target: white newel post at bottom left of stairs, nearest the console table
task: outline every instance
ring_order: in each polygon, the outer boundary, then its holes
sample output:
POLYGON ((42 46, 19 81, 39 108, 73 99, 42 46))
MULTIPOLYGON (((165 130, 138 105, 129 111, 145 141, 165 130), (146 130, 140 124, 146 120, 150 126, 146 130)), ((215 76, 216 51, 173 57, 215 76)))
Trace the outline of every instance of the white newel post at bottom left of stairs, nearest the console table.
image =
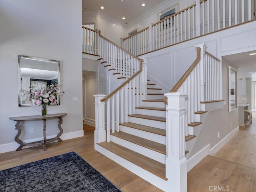
POLYGON ((106 141, 105 130, 105 102, 100 100, 106 95, 94 95, 95 97, 95 131, 94 131, 94 145, 96 143, 106 141))

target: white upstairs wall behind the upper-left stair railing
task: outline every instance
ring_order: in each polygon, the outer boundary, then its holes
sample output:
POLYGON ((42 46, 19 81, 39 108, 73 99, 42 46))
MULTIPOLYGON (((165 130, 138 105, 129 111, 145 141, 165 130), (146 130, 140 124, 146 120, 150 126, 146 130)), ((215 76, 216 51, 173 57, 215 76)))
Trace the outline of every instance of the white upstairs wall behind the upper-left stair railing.
POLYGON ((121 45, 120 38, 126 36, 126 24, 121 23, 110 16, 98 11, 83 12, 83 24, 95 24, 95 29, 99 29, 101 35, 121 45))

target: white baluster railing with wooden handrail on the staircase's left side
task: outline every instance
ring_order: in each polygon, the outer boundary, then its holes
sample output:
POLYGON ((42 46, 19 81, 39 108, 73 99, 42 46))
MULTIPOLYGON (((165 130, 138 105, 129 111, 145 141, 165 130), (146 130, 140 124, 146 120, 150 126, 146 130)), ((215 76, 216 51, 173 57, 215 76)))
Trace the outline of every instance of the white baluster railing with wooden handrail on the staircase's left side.
POLYGON ((107 142, 110 142, 110 127, 112 133, 115 130, 119 132, 119 123, 128 122, 128 114, 135 114, 135 107, 142 103, 143 60, 101 36, 100 31, 98 32, 98 44, 100 58, 126 79, 108 96, 100 99, 101 103, 106 102, 107 142))

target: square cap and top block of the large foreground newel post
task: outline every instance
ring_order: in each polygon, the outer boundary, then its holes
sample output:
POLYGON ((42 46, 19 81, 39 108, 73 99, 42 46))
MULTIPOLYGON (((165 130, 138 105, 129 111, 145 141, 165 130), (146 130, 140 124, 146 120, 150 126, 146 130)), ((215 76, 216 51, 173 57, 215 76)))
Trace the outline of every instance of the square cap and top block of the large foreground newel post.
POLYGON ((167 97, 167 109, 185 109, 185 99, 188 96, 187 93, 166 93, 164 96, 167 97))

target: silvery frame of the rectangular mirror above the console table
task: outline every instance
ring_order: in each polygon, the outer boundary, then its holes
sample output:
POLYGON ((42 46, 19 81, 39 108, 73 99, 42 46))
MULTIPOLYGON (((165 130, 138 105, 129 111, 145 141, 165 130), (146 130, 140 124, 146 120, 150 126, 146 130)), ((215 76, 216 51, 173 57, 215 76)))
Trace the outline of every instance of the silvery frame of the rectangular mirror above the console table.
MULTIPOLYGON (((58 64, 58 77, 57 77, 57 82, 60 82, 60 61, 57 60, 52 60, 52 59, 45 59, 45 58, 38 58, 34 56, 26 56, 26 55, 18 55, 18 106, 19 107, 34 107, 38 105, 33 105, 33 104, 22 104, 21 102, 21 62, 20 59, 25 58, 25 59, 30 59, 30 60, 35 60, 35 61, 40 61, 40 62, 53 62, 58 64)), ((40 79, 39 79, 40 80, 40 79)), ((46 80, 47 81, 47 80, 46 80)), ((60 105, 60 96, 58 95, 57 98, 57 104, 52 104, 52 105, 60 105)))

